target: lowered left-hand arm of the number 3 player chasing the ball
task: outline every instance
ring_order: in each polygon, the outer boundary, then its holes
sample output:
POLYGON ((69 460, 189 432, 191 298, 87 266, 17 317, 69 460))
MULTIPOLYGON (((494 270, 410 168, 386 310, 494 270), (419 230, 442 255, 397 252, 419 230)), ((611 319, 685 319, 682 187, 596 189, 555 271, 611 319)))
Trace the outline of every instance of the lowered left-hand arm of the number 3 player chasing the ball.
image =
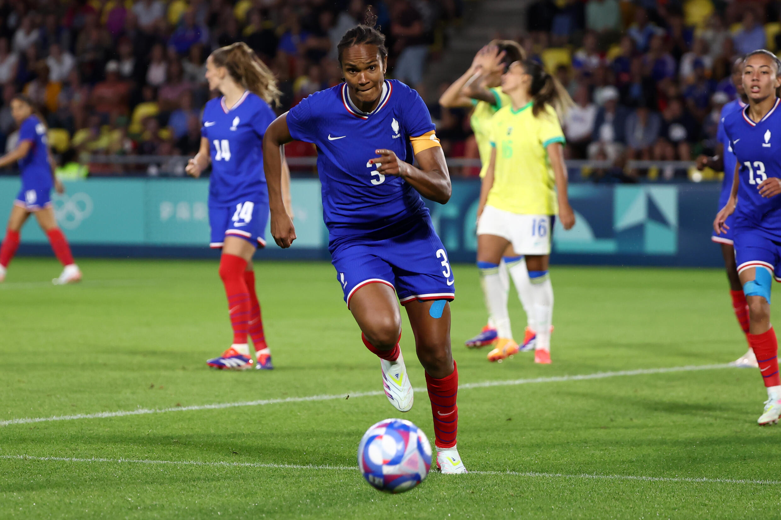
POLYGON ((290 247, 295 240, 293 220, 285 209, 283 193, 283 158, 281 147, 293 140, 287 128, 287 112, 266 129, 263 136, 263 172, 269 187, 269 209, 271 210, 271 235, 281 248, 290 247))

